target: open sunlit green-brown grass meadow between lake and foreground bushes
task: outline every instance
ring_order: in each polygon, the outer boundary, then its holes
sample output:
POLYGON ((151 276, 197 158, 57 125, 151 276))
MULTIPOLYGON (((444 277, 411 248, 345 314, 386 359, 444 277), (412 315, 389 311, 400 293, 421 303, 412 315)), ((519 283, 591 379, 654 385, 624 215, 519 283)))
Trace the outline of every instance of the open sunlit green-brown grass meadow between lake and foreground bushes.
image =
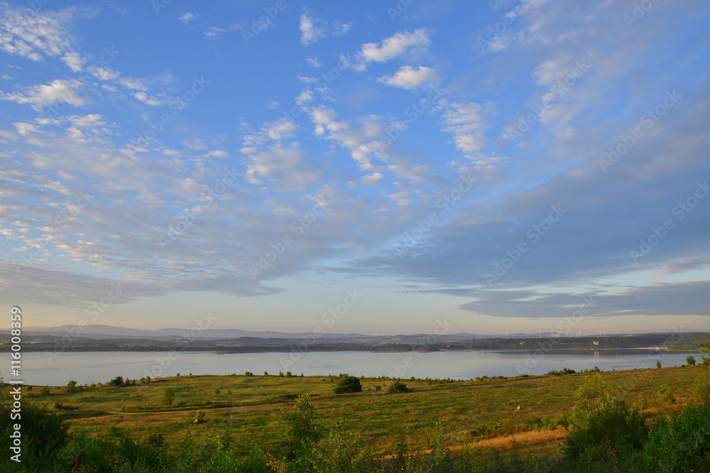
MULTIPOLYGON (((649 411, 660 406, 657 393, 661 388, 667 388, 677 399, 682 399, 689 394, 692 381, 702 374, 703 368, 699 366, 602 373, 619 386, 623 399, 634 402, 643 394, 649 411)), ((106 433, 116 426, 128 428, 139 438, 160 432, 169 440, 190 434, 198 442, 212 442, 228 430, 244 452, 253 445, 268 449, 283 440, 286 428, 280 411, 290 406, 291 394, 307 392, 315 395, 318 423, 327 427, 334 421, 344 420, 363 428, 374 452, 386 455, 393 451, 397 435, 402 433, 410 445, 426 448, 439 420, 452 441, 464 438, 466 442, 473 442, 480 440, 472 432, 480 431, 481 426, 493 430, 488 437, 505 437, 531 416, 571 413, 574 391, 588 376, 591 373, 432 386, 407 381, 408 387, 413 389, 407 394, 387 394, 386 386, 391 382, 364 379, 363 393, 339 396, 332 394, 337 378, 274 376, 173 377, 121 388, 82 388, 73 393, 53 388, 45 396, 38 396, 39 389, 35 386, 30 392, 49 408, 55 402, 72 407, 64 414, 72 425, 97 433, 106 433), (375 391, 377 385, 383 386, 381 391, 375 391), (176 403, 185 404, 173 408, 161 406, 160 399, 168 387, 175 389, 176 403), (207 401, 214 404, 205 405, 207 401), (520 411, 516 410, 517 406, 520 411), (141 411, 124 413, 120 412, 122 409, 141 411), (207 422, 192 423, 197 409, 204 411, 207 422)), ((521 444, 532 445, 540 453, 556 450, 560 438, 559 430, 516 435, 516 440, 523 440, 521 444)), ((486 440, 484 444, 505 449, 510 443, 498 439, 486 440)))

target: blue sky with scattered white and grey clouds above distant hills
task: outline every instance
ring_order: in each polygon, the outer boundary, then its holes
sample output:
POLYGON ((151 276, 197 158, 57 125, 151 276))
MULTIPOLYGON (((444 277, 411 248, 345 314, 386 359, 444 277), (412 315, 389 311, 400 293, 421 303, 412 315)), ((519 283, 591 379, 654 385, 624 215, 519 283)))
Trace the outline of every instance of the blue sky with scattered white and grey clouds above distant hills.
POLYGON ((25 326, 710 330, 709 24, 2 1, 1 299, 25 326))

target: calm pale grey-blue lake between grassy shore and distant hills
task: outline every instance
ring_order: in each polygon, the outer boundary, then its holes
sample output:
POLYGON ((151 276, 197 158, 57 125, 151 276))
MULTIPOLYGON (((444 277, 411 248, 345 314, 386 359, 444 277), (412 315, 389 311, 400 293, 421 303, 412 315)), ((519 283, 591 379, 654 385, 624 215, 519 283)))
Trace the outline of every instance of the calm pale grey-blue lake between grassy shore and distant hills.
MULTIPOLYGON (((167 352, 65 352, 48 362, 41 352, 22 355, 22 378, 27 384, 65 386, 71 379, 79 384, 107 382, 116 376, 137 379, 146 376, 188 374, 339 374, 471 379, 477 376, 543 374, 568 367, 580 371, 598 366, 603 371, 684 365, 688 354, 662 352, 588 352, 536 355, 525 352, 289 352, 228 353, 178 352, 170 360, 167 352), (527 365, 527 366, 526 366, 527 365)), ((699 354, 694 354, 700 362, 699 354)), ((5 380, 8 373, 3 371, 5 380)))

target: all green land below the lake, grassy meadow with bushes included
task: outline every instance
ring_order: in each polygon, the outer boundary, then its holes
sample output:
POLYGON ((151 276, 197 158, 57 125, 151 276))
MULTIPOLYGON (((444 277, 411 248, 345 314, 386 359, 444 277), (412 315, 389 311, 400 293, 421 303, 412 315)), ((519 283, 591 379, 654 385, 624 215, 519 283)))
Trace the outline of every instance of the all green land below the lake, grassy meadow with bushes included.
MULTIPOLYGON (((33 386, 22 406, 22 467, 704 472, 709 364, 468 382, 248 373, 33 386)), ((20 471, 8 460, 9 424, 5 410, 0 468, 20 471)))

